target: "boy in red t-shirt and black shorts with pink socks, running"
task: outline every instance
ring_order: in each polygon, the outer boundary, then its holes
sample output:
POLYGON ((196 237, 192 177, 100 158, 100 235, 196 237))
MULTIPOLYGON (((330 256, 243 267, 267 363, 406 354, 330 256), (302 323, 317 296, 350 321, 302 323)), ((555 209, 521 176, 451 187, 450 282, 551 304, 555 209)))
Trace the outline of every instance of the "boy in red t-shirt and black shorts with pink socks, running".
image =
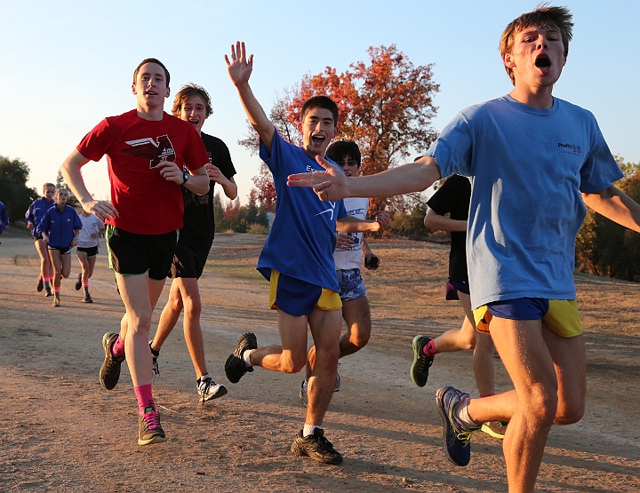
POLYGON ((116 273, 126 313, 120 334, 108 332, 102 338, 100 384, 108 390, 116 386, 126 354, 140 411, 140 445, 166 440, 151 393, 148 335, 182 227, 179 186, 199 195, 209 189, 204 168, 209 157, 202 139, 193 125, 164 113, 169 80, 162 62, 142 60, 133 72, 136 108, 100 122, 60 168, 84 211, 106 219, 108 225, 109 266, 116 273), (111 203, 93 200, 80 171, 103 155, 111 203))

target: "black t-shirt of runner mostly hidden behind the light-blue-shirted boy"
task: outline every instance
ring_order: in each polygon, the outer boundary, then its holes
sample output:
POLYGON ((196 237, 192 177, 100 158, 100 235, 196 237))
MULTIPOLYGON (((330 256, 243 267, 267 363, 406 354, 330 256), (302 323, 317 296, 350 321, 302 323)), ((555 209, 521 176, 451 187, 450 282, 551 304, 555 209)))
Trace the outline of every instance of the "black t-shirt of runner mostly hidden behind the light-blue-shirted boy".
MULTIPOLYGON (((471 182, 463 176, 449 177, 427 205, 436 213, 444 216, 449 213, 451 219, 468 219, 469 202, 471 201, 471 182)), ((453 281, 468 282, 467 272, 467 233, 452 231, 452 246, 449 252, 449 277, 453 281)))

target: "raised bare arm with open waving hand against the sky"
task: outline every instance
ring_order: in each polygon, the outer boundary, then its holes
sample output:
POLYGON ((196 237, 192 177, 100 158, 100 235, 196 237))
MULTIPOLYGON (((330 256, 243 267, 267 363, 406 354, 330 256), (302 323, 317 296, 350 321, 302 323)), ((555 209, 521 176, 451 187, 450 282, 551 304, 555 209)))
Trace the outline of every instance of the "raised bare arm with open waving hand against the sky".
POLYGON ((244 42, 236 41, 236 45, 231 45, 231 60, 225 55, 227 62, 228 76, 234 83, 240 96, 240 102, 244 107, 244 113, 249 118, 249 123, 260 135, 262 143, 267 148, 267 152, 271 154, 271 144, 276 128, 268 119, 264 109, 260 106, 258 99, 253 95, 251 86, 249 85, 249 77, 253 70, 253 55, 246 56, 246 48, 244 42))

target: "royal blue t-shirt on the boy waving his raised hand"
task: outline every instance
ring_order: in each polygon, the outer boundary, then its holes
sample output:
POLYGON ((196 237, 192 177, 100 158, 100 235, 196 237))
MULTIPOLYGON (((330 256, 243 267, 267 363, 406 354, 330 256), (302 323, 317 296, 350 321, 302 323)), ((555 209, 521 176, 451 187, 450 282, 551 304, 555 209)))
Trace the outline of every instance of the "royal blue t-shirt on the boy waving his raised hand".
POLYGON ((313 188, 287 187, 293 173, 324 171, 301 147, 276 131, 271 155, 260 140, 260 159, 267 163, 276 185, 276 218, 258 259, 267 279, 271 269, 301 281, 338 291, 333 263, 336 220, 347 215, 342 201, 322 202, 313 188))

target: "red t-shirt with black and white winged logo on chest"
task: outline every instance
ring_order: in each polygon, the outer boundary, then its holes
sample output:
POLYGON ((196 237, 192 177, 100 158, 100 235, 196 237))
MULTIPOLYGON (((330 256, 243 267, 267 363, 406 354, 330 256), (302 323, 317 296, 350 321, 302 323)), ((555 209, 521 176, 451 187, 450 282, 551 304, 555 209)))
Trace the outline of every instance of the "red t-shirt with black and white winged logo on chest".
POLYGON ((118 216, 106 223, 138 235, 164 235, 182 227, 181 187, 160 176, 157 164, 172 161, 194 171, 209 163, 191 123, 168 113, 151 122, 135 109, 102 120, 77 151, 92 161, 107 155, 111 203, 118 216))

